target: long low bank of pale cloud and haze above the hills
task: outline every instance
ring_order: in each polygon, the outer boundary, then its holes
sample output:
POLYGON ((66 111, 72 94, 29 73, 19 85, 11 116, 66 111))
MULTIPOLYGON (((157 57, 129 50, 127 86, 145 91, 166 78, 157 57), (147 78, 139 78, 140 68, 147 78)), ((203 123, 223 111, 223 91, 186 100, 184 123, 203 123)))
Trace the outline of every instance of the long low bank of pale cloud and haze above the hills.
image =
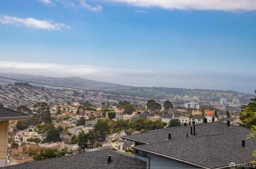
POLYGON ((47 77, 80 77, 130 86, 177 87, 236 90, 253 93, 256 77, 223 74, 155 72, 153 70, 110 69, 87 65, 53 63, 3 62, 1 73, 44 75, 47 77))

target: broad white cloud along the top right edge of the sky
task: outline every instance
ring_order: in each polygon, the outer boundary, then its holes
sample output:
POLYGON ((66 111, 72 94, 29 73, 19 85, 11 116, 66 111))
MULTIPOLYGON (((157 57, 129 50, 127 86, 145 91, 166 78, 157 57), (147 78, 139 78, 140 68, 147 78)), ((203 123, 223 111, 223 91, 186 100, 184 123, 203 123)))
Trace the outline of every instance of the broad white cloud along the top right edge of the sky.
POLYGON ((255 0, 108 0, 141 7, 161 7, 166 10, 254 11, 255 0))

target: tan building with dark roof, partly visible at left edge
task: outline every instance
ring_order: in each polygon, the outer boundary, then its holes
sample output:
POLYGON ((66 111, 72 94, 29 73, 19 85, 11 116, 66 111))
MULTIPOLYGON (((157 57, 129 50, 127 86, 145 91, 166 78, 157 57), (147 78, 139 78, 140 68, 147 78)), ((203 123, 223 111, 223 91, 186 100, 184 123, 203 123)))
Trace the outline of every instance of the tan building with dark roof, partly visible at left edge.
POLYGON ((14 111, 13 109, 0 107, 0 167, 7 166, 9 160, 7 158, 8 136, 9 136, 9 121, 12 120, 27 120, 32 116, 14 111))

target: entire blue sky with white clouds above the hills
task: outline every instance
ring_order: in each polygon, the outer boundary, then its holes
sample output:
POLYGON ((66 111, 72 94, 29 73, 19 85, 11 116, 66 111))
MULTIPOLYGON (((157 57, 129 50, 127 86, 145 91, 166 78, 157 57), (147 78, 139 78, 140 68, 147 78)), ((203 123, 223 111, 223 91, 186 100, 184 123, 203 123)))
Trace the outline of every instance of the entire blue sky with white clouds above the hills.
POLYGON ((253 93, 255 1, 205 2, 2 0, 0 71, 253 93))

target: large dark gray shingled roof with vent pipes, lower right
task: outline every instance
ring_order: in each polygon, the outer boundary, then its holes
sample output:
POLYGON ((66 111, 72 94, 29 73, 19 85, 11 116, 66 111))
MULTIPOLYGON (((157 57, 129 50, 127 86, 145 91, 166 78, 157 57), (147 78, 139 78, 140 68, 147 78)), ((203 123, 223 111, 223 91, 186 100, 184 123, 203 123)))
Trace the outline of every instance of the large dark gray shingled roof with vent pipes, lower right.
POLYGON ((180 126, 123 138, 148 142, 134 149, 204 168, 227 167, 230 162, 241 164, 254 159, 256 138, 246 139, 251 130, 222 122, 195 126, 195 136, 190 135, 190 126, 180 126), (167 140, 167 133, 172 134, 171 140, 167 140), (246 140, 245 147, 242 139, 246 140))

